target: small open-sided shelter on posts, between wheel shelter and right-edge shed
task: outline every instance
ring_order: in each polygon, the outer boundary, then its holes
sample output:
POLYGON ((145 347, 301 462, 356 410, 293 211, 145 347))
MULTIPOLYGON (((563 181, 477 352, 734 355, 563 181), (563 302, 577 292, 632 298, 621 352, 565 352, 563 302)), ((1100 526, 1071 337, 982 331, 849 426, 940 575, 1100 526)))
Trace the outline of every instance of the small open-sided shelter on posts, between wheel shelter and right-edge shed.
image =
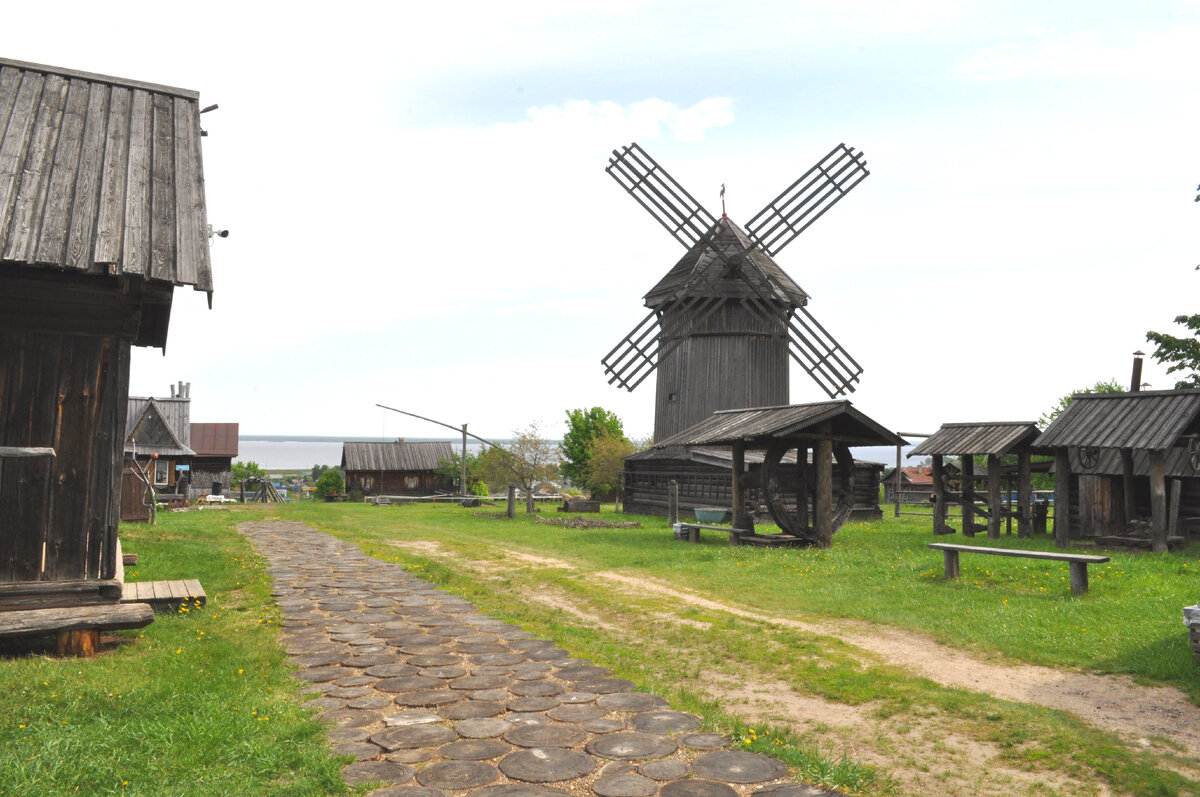
POLYGON ((1033 534, 1033 481, 1030 454, 1038 438, 1038 426, 1033 421, 994 421, 984 424, 942 424, 931 437, 926 437, 908 453, 908 456, 929 456, 934 462, 934 533, 953 534, 946 525, 948 502, 958 502, 962 508, 962 533, 974 537, 977 514, 988 519, 988 537, 1000 537, 1001 520, 1012 510, 1004 501, 1004 474, 1000 457, 1016 455, 1016 534, 1033 534), (961 489, 952 492, 947 485, 946 457, 960 457, 961 489), (974 457, 988 457, 986 475, 977 474, 974 457), (976 490, 976 481, 986 479, 986 493, 976 490), (983 498, 983 505, 976 502, 983 498))

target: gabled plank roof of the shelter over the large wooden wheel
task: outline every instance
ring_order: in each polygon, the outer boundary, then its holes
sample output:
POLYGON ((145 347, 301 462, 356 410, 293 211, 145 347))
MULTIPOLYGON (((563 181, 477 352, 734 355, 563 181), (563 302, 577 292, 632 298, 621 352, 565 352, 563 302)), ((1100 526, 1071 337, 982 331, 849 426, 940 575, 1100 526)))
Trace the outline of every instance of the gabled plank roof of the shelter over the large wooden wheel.
POLYGON ((902 445, 904 438, 854 409, 848 401, 821 401, 811 405, 722 409, 695 426, 656 444, 730 445, 748 443, 748 448, 766 448, 787 438, 816 438, 818 427, 828 424, 829 436, 847 445, 902 445))

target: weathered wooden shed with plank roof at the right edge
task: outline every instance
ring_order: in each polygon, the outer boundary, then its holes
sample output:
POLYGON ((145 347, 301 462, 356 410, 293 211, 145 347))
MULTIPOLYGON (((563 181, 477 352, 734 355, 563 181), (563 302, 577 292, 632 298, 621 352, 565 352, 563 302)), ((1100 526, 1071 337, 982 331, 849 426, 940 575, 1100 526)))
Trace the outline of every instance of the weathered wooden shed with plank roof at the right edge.
POLYGON ((1160 552, 1200 523, 1200 390, 1078 394, 1037 447, 1055 456, 1060 545, 1160 552))

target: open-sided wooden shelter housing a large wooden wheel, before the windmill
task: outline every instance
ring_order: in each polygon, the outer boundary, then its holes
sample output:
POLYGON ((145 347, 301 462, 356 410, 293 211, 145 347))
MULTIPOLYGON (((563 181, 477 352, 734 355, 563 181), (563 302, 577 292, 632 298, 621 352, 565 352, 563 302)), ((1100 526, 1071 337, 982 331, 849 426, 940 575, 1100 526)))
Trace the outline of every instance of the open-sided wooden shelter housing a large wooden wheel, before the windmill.
POLYGON ((785 534, 828 547, 834 532, 853 510, 854 463, 850 448, 904 444, 898 435, 844 400, 726 409, 659 445, 728 447, 732 450, 733 526, 749 531, 754 526, 745 501, 745 453, 763 451, 760 484, 772 519, 785 534), (809 449, 812 450, 811 466, 809 449), (792 451, 794 455, 785 465, 785 456, 792 451), (841 485, 838 505, 833 498, 835 457, 841 485))

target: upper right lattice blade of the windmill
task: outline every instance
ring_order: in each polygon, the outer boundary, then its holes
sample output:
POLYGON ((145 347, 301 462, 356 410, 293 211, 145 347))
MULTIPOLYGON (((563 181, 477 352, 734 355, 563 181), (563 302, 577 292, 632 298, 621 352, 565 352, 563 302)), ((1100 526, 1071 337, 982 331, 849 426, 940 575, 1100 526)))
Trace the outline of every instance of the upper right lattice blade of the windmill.
POLYGON ((838 144, 746 223, 750 240, 774 257, 868 174, 863 154, 838 144))

